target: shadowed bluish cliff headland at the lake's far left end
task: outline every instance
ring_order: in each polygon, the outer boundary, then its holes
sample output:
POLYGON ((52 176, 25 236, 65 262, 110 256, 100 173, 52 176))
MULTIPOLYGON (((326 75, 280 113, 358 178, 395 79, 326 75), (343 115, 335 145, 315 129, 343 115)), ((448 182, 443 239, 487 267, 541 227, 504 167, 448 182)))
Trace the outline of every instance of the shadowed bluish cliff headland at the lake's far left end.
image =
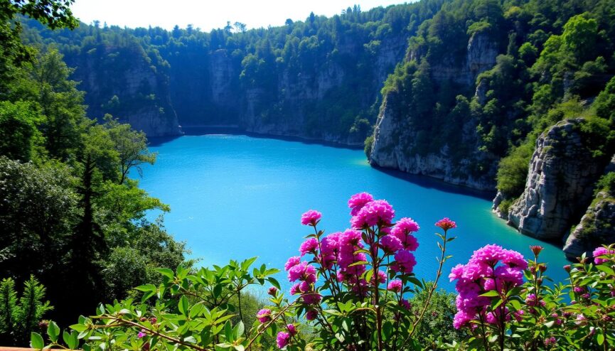
POLYGON ((139 47, 97 45, 67 58, 85 90, 90 117, 112 114, 148 136, 181 135, 166 76, 139 47))

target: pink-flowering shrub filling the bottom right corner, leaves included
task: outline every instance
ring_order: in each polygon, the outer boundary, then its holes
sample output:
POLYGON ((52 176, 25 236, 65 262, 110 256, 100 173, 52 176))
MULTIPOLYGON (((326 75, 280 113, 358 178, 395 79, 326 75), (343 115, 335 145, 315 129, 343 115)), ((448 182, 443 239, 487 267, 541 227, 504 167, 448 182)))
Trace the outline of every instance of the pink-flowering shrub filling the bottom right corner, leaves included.
POLYGON ((452 269, 459 292, 454 327, 473 337, 454 349, 615 350, 615 250, 599 247, 594 260, 564 267, 568 284, 546 286, 542 247, 518 252, 488 245, 452 269), (523 274, 526 282, 523 284, 523 274))

